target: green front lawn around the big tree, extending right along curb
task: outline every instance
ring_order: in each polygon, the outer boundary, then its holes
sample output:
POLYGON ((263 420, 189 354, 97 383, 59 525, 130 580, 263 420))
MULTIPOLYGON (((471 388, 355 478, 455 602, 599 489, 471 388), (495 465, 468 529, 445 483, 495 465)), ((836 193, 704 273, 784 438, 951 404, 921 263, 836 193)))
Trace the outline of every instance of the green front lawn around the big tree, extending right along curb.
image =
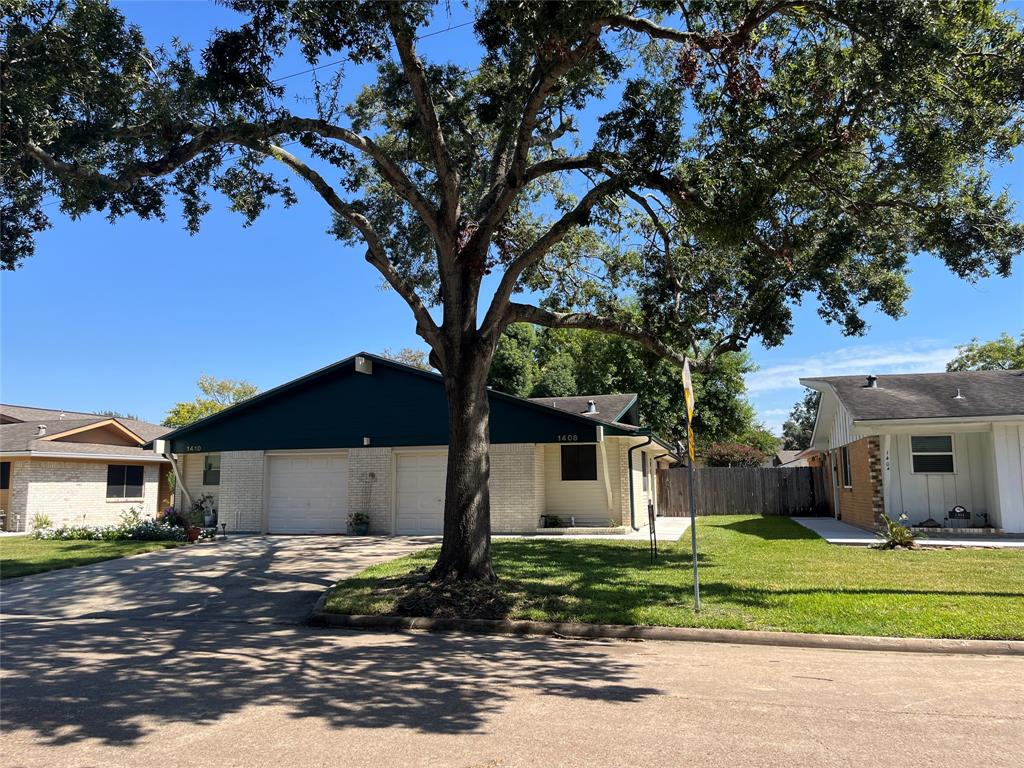
POLYGON ((454 597, 438 596, 422 581, 437 554, 431 549, 340 582, 327 609, 1024 639, 1019 550, 834 547, 784 518, 701 518, 698 531, 699 614, 692 610, 688 535, 663 545, 656 565, 640 542, 498 540, 499 587, 454 597))

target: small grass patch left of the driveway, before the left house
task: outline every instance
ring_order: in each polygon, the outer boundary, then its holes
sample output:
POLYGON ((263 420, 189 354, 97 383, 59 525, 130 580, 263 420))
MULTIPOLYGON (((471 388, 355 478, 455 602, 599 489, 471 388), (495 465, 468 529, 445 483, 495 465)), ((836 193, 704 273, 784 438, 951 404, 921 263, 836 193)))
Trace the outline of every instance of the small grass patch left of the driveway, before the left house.
POLYGON ((0 539, 0 579, 73 568, 139 552, 178 547, 182 542, 55 542, 31 537, 0 539))

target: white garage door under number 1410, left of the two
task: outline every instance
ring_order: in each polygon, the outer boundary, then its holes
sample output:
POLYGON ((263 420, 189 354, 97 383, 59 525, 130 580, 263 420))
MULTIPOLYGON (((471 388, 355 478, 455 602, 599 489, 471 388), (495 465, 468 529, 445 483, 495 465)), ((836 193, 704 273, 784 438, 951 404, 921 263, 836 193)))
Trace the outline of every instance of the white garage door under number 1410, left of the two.
POLYGON ((271 534, 345 532, 348 459, 273 456, 269 461, 271 534))

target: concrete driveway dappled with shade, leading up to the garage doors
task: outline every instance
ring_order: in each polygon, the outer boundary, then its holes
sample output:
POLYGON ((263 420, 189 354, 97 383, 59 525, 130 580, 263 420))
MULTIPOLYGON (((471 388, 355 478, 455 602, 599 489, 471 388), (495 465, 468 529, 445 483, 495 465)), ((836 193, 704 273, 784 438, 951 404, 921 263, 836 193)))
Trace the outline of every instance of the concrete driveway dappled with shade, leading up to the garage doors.
POLYGON ((328 587, 439 538, 243 536, 4 582, 0 611, 299 624, 328 587))

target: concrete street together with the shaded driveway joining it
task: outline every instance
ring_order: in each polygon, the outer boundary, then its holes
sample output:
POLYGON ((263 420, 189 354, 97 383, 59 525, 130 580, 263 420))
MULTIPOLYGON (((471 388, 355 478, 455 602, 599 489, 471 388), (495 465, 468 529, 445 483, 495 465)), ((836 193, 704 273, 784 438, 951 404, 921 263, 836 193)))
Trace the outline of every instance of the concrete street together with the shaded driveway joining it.
POLYGON ((1024 751, 1019 657, 301 624, 335 578, 417 546, 253 539, 4 584, 0 764, 964 768, 1024 751))

